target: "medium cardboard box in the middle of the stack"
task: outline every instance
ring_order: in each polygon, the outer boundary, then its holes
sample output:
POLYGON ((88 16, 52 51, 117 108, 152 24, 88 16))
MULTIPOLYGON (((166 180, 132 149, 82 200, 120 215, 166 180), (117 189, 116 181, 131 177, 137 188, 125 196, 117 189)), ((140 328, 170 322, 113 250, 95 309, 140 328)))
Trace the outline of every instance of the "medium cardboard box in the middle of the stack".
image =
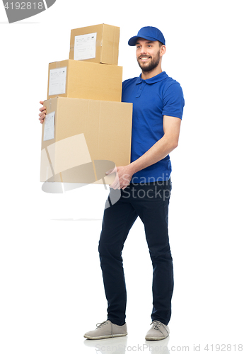
POLYGON ((121 102, 122 67, 77 60, 49 64, 47 99, 86 98, 121 102))

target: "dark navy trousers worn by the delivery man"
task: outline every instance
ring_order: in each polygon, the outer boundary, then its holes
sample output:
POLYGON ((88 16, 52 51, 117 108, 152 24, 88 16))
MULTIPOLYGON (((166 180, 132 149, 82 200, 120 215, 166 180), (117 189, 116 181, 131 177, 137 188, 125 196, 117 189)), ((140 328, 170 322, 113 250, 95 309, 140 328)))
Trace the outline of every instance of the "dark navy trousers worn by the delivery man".
POLYGON ((168 324, 173 295, 173 261, 168 239, 168 205, 171 181, 130 184, 121 190, 120 199, 112 203, 110 188, 103 215, 98 251, 103 284, 108 300, 108 319, 119 326, 125 322, 127 292, 124 280, 122 249, 137 217, 144 223, 146 241, 153 264, 152 321, 168 324))

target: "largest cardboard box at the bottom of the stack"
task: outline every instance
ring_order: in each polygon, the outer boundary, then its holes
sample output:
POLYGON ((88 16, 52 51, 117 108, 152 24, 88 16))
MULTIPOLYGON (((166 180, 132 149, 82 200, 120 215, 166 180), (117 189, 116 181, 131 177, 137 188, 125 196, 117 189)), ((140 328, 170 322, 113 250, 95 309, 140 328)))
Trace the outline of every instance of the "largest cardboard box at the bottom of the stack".
POLYGON ((111 183, 109 169, 130 163, 132 103, 45 101, 40 181, 111 183))

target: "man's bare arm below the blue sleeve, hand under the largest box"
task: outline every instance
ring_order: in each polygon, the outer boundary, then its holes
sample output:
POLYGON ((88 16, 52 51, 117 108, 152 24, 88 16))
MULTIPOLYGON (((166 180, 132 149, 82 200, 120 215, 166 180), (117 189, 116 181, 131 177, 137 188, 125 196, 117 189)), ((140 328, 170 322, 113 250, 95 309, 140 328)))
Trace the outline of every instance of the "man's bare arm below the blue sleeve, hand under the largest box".
MULTIPOLYGON (((146 169, 146 167, 156 164, 170 154, 170 152, 178 147, 178 140, 180 135, 180 118, 163 116, 163 131, 164 135, 154 144, 145 154, 139 159, 127 166, 120 166, 117 169, 117 176, 115 181, 110 185, 111 188, 124 189, 129 185, 134 173, 146 169)), ((111 173, 113 170, 108 171, 111 173)))

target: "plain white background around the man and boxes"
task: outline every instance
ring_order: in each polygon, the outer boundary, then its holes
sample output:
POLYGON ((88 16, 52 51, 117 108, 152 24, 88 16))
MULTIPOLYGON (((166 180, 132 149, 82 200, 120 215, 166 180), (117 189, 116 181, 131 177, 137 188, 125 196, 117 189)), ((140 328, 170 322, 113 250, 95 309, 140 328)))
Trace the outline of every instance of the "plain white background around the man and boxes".
MULTIPOLYGON (((185 94, 180 143, 171 154, 175 291, 168 350, 189 346, 192 352, 200 345, 207 353, 207 344, 231 344, 235 353, 233 345, 243 343, 240 0, 57 0, 12 24, 0 4, 0 351, 124 353, 112 351, 108 341, 99 352, 83 338, 106 319, 98 239, 108 190, 89 185, 55 195, 42 192, 39 182, 38 110, 47 97, 48 63, 68 59, 72 28, 99 23, 120 27, 123 79, 140 74, 127 40, 145 25, 160 28, 167 48, 163 70, 185 94)), ((152 268, 139 220, 123 255, 127 352, 145 343, 151 323, 152 268)))

